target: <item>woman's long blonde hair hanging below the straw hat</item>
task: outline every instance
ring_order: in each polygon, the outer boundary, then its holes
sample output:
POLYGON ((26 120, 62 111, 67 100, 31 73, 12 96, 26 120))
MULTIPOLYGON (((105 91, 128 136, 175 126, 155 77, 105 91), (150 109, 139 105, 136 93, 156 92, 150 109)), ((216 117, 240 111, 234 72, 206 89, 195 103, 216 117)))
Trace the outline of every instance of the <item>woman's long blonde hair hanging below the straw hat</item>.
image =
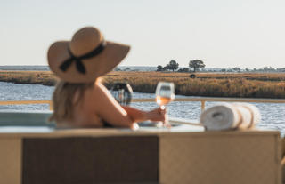
POLYGON ((94 82, 87 84, 58 82, 53 92, 53 115, 50 121, 59 123, 70 120, 73 117, 74 107, 82 101, 85 91, 92 87, 94 87, 94 82))

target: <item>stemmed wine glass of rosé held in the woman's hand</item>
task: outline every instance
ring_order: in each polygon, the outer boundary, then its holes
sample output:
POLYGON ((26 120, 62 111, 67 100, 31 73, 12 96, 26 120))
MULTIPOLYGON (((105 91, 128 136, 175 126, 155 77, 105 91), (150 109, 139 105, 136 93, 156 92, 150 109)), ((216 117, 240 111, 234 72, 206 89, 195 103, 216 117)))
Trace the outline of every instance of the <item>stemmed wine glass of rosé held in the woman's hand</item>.
MULTIPOLYGON (((155 94, 157 104, 159 104, 160 108, 165 109, 166 105, 175 99, 175 84, 159 82, 155 94)), ((168 124, 167 119, 165 124, 168 124)))

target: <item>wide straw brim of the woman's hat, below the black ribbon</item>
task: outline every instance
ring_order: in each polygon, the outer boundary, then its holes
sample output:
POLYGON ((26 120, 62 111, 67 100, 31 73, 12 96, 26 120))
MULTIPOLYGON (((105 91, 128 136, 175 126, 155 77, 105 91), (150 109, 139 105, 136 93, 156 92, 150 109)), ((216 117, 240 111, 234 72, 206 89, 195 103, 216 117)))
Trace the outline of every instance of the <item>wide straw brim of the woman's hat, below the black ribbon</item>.
POLYGON ((115 68, 130 50, 130 46, 126 44, 118 44, 107 41, 104 50, 90 59, 82 60, 85 66, 85 74, 77 71, 76 63, 72 62, 66 71, 62 71, 60 66, 63 61, 69 59, 69 41, 56 42, 51 45, 47 60, 51 70, 61 80, 69 83, 89 83, 99 77, 109 73, 115 68))

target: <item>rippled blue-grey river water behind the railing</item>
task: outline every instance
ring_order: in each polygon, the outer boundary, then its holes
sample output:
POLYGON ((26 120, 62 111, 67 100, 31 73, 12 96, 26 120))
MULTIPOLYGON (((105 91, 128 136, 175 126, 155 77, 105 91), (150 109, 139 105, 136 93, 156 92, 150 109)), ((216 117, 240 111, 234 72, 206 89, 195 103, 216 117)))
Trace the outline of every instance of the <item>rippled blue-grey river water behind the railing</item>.
MULTIPOLYGON (((51 100, 54 87, 40 84, 12 84, 0 82, 0 100, 51 100)), ((154 94, 134 92, 134 99, 153 99, 154 94)), ((176 95, 175 98, 197 98, 176 95)), ((215 102, 206 102, 206 108, 213 106, 215 102)), ((279 103, 252 103, 259 108, 262 121, 257 124, 259 128, 273 129, 285 134, 285 104, 279 103)), ((154 102, 136 102, 131 104, 134 108, 149 110, 157 108, 154 102)), ((180 102, 174 101, 168 104, 168 114, 171 117, 187 119, 199 119, 200 102, 180 102)), ((9 105, 0 106, 0 110, 48 110, 49 105, 9 105)))

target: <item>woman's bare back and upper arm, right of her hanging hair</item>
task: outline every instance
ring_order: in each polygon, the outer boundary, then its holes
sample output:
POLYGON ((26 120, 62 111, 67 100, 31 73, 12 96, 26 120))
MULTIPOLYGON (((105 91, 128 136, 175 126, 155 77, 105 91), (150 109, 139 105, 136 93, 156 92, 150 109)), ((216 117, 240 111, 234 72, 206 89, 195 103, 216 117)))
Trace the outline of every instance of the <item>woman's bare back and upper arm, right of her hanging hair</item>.
POLYGON ((106 123, 118 126, 131 124, 124 108, 118 105, 100 82, 95 82, 94 86, 85 89, 85 92, 75 92, 72 106, 72 117, 59 122, 59 125, 67 122, 80 127, 102 127, 106 123))

